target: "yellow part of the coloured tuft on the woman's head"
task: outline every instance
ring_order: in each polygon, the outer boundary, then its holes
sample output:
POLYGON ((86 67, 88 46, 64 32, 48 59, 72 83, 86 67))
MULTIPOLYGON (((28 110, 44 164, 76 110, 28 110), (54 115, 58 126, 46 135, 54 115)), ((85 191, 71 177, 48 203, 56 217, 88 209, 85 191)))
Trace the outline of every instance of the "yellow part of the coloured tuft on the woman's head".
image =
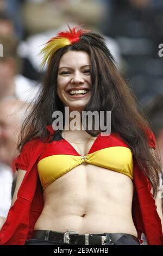
POLYGON ((71 45, 70 40, 67 38, 54 38, 49 41, 40 51, 40 56, 43 56, 41 67, 43 67, 46 62, 49 65, 53 53, 66 45, 71 45))

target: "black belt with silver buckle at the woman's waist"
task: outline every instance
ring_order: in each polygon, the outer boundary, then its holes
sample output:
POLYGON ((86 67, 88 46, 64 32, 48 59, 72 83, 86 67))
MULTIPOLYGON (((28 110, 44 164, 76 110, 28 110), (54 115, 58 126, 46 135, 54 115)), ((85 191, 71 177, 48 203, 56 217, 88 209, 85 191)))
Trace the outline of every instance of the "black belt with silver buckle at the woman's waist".
MULTIPOLYGON (((107 233, 108 234, 108 233, 107 233)), ((136 236, 130 234, 120 234, 114 233, 106 236, 104 234, 85 234, 78 235, 77 231, 66 231, 65 233, 60 233, 51 230, 34 230, 33 239, 41 239, 47 241, 56 241, 70 243, 72 245, 114 245, 115 242, 122 236, 130 237, 139 243, 139 239, 136 236)))

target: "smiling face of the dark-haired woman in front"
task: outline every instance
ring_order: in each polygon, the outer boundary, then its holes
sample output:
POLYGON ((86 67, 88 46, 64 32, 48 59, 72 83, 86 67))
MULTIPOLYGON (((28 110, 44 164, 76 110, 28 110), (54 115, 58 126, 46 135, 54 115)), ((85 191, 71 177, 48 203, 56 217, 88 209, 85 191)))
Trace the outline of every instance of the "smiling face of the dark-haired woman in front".
POLYGON ((82 112, 91 96, 90 57, 83 51, 68 51, 60 59, 57 94, 70 111, 82 112))

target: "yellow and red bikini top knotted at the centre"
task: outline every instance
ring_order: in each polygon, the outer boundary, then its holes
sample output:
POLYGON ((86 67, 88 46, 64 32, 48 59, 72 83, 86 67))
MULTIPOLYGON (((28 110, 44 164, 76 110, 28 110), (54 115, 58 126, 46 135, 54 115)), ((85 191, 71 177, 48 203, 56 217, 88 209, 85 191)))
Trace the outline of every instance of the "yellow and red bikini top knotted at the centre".
POLYGON ((40 155, 37 164, 43 190, 60 176, 83 162, 114 170, 133 179, 133 157, 128 145, 116 133, 110 136, 99 134, 86 156, 66 141, 52 141, 40 155))

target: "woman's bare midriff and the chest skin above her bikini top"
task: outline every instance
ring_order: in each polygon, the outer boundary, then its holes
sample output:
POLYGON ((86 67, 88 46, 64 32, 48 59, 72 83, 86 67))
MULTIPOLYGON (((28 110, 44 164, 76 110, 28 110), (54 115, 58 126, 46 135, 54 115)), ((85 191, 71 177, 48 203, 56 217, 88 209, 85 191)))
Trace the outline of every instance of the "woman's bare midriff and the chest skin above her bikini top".
MULTIPOLYGON (((74 133, 73 138, 77 139, 74 133)), ((95 139, 89 138, 85 145, 71 144, 86 155, 95 139)), ((43 211, 34 229, 137 236, 132 200, 133 182, 128 176, 85 162, 45 188, 43 211)))

